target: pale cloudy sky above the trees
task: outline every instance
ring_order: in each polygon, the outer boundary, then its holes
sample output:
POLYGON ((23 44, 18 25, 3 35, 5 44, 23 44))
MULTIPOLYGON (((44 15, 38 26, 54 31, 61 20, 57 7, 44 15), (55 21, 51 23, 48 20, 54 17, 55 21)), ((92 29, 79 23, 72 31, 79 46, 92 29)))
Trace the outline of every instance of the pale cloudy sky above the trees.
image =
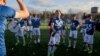
MULTIPOLYGON (((29 11, 33 9, 44 11, 44 10, 55 10, 60 9, 62 12, 67 13, 69 9, 76 11, 88 11, 90 12, 91 7, 100 7, 100 0, 23 0, 27 5, 29 11)), ((7 0, 7 5, 15 9, 18 9, 16 0, 7 0)))

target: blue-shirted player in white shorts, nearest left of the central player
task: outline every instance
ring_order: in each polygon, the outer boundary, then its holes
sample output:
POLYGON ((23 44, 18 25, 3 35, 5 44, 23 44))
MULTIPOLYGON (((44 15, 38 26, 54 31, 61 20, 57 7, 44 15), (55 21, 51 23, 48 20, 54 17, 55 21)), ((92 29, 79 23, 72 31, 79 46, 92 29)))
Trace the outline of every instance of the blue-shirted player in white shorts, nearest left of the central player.
POLYGON ((40 44, 40 18, 35 15, 34 18, 31 19, 32 26, 33 26, 33 37, 34 37, 34 43, 40 44))

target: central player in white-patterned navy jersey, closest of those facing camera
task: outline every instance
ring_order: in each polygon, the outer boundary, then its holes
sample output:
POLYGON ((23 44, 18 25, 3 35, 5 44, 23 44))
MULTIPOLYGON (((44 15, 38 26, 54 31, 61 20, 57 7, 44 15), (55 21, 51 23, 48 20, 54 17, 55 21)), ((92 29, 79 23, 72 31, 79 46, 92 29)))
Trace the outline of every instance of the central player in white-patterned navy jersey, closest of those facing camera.
POLYGON ((48 56, 53 56, 57 46, 59 45, 62 26, 63 20, 61 19, 61 11, 56 10, 55 17, 51 21, 51 28, 53 31, 48 44, 48 56))

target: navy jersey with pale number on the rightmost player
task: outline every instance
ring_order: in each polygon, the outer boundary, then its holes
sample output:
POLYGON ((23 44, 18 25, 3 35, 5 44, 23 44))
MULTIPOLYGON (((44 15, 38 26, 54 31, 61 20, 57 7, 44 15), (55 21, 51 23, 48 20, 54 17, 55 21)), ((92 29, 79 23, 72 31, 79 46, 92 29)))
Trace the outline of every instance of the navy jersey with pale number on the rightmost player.
POLYGON ((86 34, 93 35, 95 29, 95 22, 94 21, 86 21, 86 34))

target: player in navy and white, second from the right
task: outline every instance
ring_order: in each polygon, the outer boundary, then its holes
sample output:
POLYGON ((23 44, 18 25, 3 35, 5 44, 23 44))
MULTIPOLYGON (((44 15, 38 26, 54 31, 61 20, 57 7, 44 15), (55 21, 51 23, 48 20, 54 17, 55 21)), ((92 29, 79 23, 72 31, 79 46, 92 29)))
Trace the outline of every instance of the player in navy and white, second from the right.
POLYGON ((79 22, 77 16, 73 15, 71 19, 70 33, 69 33, 69 44, 68 47, 75 48, 77 43, 77 28, 79 27, 79 22))

